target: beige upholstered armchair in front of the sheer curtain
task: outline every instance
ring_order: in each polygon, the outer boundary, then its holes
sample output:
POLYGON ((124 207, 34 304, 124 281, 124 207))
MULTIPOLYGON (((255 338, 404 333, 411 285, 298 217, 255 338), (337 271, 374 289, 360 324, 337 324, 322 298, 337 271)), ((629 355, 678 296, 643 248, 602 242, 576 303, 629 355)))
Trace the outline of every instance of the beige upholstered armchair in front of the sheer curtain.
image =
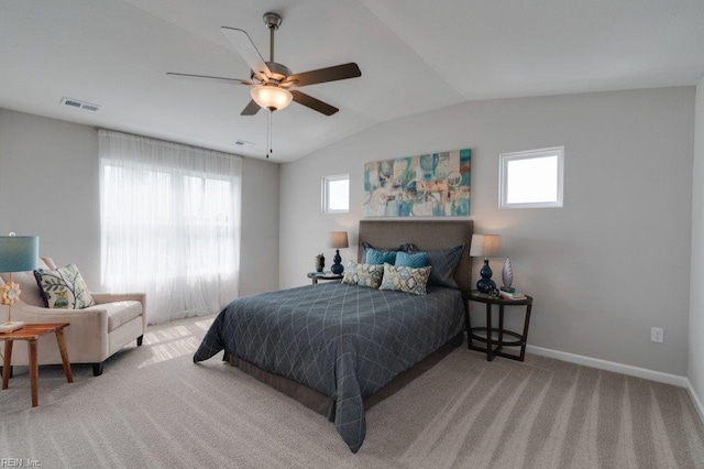
MULTIPOLYGON (((40 260, 40 269, 56 269, 50 258, 40 260)), ((0 285, 9 274, 0 275, 0 285)), ((68 359, 72 363, 92 364, 92 374, 102 373, 102 363, 114 352, 136 339, 138 347, 146 331, 146 295, 144 293, 111 294, 91 293, 95 306, 84 309, 51 309, 44 307, 40 287, 32 272, 15 272, 14 282, 22 294, 12 306, 12 319, 24 323, 69 323, 64 335, 68 359)), ((7 306, 0 306, 0 320, 7 317, 7 306)), ((51 337, 37 341, 40 364, 61 364, 56 340, 51 337)), ((26 342, 16 341, 12 351, 12 364, 29 364, 26 342)))

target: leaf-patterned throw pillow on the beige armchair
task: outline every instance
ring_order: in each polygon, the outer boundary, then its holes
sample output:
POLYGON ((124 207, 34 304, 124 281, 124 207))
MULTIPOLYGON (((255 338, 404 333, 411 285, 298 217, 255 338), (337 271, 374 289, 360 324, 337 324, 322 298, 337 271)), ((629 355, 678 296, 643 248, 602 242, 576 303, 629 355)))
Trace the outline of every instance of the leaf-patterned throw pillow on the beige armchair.
POLYGON ((48 308, 81 309, 96 304, 76 264, 55 271, 38 269, 34 277, 48 308))

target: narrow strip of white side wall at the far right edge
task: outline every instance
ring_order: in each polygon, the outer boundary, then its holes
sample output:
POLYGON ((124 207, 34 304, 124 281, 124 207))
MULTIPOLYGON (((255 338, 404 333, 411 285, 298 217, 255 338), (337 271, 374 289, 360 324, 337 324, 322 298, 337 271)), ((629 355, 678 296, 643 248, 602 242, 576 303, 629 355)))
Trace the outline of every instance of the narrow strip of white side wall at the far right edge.
POLYGON ((696 87, 693 179, 688 378, 704 403, 704 78, 696 87))

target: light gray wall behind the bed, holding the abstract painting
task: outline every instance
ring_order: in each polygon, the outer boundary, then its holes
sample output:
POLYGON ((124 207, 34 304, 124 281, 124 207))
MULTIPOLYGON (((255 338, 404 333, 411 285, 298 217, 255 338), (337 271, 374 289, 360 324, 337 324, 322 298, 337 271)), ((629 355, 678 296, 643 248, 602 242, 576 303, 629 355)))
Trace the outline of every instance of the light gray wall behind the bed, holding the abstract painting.
MULTIPOLYGON (((346 229, 356 242, 365 162, 470 148, 471 218, 476 232, 503 234, 516 286, 535 296, 529 343, 684 375, 694 94, 468 102, 377 124, 285 164, 280 286, 306 284, 317 253, 330 259, 327 231, 346 229), (564 207, 499 210, 498 154, 557 145, 565 146, 564 207), (352 210, 321 215, 320 178, 339 173, 350 173, 352 210), (652 326, 666 329, 664 343, 650 341, 652 326)), ((493 261, 495 272, 499 265, 493 261)))

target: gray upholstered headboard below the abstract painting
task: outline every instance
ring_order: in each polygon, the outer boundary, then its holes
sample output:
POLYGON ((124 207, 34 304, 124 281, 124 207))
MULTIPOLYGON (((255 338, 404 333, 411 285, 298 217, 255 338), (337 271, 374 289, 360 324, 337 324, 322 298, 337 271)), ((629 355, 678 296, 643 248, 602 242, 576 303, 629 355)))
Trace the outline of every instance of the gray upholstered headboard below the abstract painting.
POLYGON ((470 243, 472 241, 472 220, 435 221, 435 220, 361 220, 360 246, 358 261, 361 258, 362 243, 366 242, 377 249, 394 249, 410 242, 421 251, 435 251, 464 244, 462 258, 454 272, 454 280, 460 290, 472 290, 472 263, 470 243))

